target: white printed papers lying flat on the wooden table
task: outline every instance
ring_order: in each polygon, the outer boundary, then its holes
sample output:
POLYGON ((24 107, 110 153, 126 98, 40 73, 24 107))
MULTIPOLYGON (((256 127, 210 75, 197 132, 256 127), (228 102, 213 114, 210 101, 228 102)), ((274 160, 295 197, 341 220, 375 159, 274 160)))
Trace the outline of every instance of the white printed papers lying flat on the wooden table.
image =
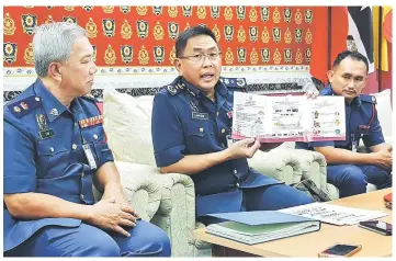
POLYGON ((320 222, 338 226, 355 225, 360 222, 388 216, 386 212, 382 211, 366 211, 318 202, 284 208, 280 209, 279 212, 318 219, 320 222))

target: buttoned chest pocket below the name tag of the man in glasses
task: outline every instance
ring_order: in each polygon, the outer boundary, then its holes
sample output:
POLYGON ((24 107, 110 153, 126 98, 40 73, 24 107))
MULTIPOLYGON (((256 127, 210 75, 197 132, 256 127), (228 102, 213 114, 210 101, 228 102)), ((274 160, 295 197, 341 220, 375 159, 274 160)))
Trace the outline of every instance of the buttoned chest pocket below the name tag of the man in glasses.
POLYGON ((214 125, 211 121, 193 121, 185 127, 185 145, 189 154, 208 154, 216 144, 214 125))

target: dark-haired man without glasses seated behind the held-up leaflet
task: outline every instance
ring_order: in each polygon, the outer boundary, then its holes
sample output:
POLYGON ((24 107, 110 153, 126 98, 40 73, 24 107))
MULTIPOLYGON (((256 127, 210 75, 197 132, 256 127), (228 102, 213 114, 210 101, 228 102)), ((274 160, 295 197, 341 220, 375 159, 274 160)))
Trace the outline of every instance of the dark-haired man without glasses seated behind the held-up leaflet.
POLYGON ((366 184, 392 186, 392 146, 385 144, 375 110, 375 98, 361 94, 367 82, 367 59, 360 53, 340 53, 328 72, 329 86, 321 95, 346 99, 347 139, 341 141, 296 143, 296 148, 323 154, 327 161, 327 181, 340 191, 340 197, 364 193, 366 184), (357 151, 360 139, 371 154, 357 151))

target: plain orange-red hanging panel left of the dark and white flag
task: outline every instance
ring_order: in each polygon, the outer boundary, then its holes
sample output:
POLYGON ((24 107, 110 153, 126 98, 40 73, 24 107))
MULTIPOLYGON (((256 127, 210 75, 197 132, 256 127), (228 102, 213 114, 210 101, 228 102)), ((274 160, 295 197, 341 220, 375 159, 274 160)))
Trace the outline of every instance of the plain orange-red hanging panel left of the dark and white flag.
POLYGON ((324 83, 328 82, 327 71, 331 69, 337 55, 347 49, 347 7, 315 7, 313 20, 313 43, 310 75, 324 83), (329 13, 330 23, 329 24, 329 13), (329 43, 328 31, 331 41, 329 43))

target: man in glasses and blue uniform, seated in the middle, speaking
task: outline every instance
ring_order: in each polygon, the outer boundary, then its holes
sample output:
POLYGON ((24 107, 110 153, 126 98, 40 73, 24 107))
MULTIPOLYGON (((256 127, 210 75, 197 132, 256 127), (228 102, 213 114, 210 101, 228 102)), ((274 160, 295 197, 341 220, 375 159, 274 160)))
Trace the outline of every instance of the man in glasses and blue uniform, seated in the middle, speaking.
MULTIPOLYGON (((210 213, 272 211, 312 203, 301 191, 249 168, 260 148, 254 138, 227 146, 236 82, 222 82, 222 58, 213 32, 194 26, 176 42, 179 77, 154 100, 151 133, 162 173, 191 175, 196 217, 208 225, 210 213)), ((270 145, 273 146, 273 145, 270 145)))

